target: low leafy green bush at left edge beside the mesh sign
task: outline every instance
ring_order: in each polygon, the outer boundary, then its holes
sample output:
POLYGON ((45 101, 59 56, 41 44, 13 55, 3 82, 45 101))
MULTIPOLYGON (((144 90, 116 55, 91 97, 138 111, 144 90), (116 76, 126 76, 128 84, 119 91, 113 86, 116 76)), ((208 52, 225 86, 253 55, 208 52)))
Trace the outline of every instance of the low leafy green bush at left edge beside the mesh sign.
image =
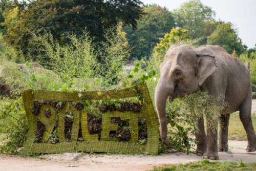
POLYGON ((0 100, 0 132, 5 136, 0 153, 19 154, 28 134, 28 121, 21 98, 0 100))

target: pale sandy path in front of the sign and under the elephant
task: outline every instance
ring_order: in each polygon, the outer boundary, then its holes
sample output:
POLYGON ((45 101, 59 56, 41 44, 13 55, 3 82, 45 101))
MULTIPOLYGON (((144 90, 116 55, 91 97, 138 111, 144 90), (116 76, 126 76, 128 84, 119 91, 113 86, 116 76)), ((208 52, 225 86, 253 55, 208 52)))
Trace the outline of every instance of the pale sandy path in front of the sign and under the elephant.
MULTIPOLYGON (((256 152, 246 153, 246 145, 246 141, 229 141, 230 151, 220 152, 220 161, 256 162, 256 152)), ((154 166, 198 160, 201 160, 201 157, 180 153, 159 156, 66 153, 42 155, 37 158, 0 155, 0 170, 148 170, 154 166)))

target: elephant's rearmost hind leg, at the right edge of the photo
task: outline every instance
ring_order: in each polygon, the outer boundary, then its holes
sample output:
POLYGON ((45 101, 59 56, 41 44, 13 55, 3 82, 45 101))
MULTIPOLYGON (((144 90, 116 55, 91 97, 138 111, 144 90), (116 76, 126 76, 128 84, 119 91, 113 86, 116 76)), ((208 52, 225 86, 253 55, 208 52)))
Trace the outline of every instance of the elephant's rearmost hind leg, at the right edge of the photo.
POLYGON ((256 151, 256 135, 253 129, 251 120, 251 89, 248 92, 244 102, 240 106, 240 120, 244 125, 244 129, 247 135, 248 145, 246 148, 247 152, 256 151))

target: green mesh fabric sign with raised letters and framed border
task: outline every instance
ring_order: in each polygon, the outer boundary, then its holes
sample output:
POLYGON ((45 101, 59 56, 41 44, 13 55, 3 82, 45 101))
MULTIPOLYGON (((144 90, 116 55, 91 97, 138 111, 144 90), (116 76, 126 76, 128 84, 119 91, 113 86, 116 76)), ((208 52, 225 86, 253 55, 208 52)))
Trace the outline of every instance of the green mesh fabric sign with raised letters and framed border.
POLYGON ((88 92, 58 92, 45 90, 26 90, 23 93, 24 106, 29 122, 28 139, 23 149, 23 155, 28 156, 33 153, 66 153, 66 152, 114 152, 114 153, 147 153, 150 155, 158 155, 159 148, 159 124, 156 112, 150 94, 145 83, 140 83, 137 87, 126 88, 121 90, 106 91, 88 91, 88 92), (102 117, 101 138, 98 140, 98 134, 89 134, 87 111, 78 111, 71 102, 83 100, 101 100, 104 97, 112 99, 122 99, 136 97, 139 90, 144 98, 142 109, 139 112, 106 112, 102 117), (100 94, 100 95, 99 95, 100 94), (49 104, 43 104, 40 113, 35 116, 32 114, 34 100, 55 100, 66 102, 65 106, 59 111, 49 104), (50 116, 46 116, 45 112, 51 112, 50 116), (71 141, 67 142, 65 138, 65 115, 73 114, 73 123, 71 131, 71 141), (111 123, 112 117, 119 117, 121 120, 129 120, 129 129, 131 139, 129 142, 119 142, 116 138, 110 137, 110 131, 116 131, 117 123, 111 123), (140 144, 138 142, 138 118, 145 118, 147 126, 147 142, 140 144), (40 143, 35 143, 35 131, 37 130, 36 122, 40 121, 45 124, 46 129, 40 143), (57 125, 58 143, 47 143, 50 138, 54 125, 57 125), (78 142, 79 123, 81 125, 81 133, 83 140, 78 142))

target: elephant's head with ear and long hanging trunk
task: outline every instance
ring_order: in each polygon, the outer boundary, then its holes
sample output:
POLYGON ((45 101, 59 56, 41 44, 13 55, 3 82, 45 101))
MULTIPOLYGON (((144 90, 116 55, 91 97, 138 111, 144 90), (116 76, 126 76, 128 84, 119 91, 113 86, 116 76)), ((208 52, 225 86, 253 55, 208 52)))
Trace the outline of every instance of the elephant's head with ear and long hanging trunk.
POLYGON ((173 45, 160 65, 160 79, 155 91, 155 104, 159 117, 161 138, 166 144, 167 122, 165 102, 196 92, 217 68, 214 55, 202 53, 187 45, 173 45))

